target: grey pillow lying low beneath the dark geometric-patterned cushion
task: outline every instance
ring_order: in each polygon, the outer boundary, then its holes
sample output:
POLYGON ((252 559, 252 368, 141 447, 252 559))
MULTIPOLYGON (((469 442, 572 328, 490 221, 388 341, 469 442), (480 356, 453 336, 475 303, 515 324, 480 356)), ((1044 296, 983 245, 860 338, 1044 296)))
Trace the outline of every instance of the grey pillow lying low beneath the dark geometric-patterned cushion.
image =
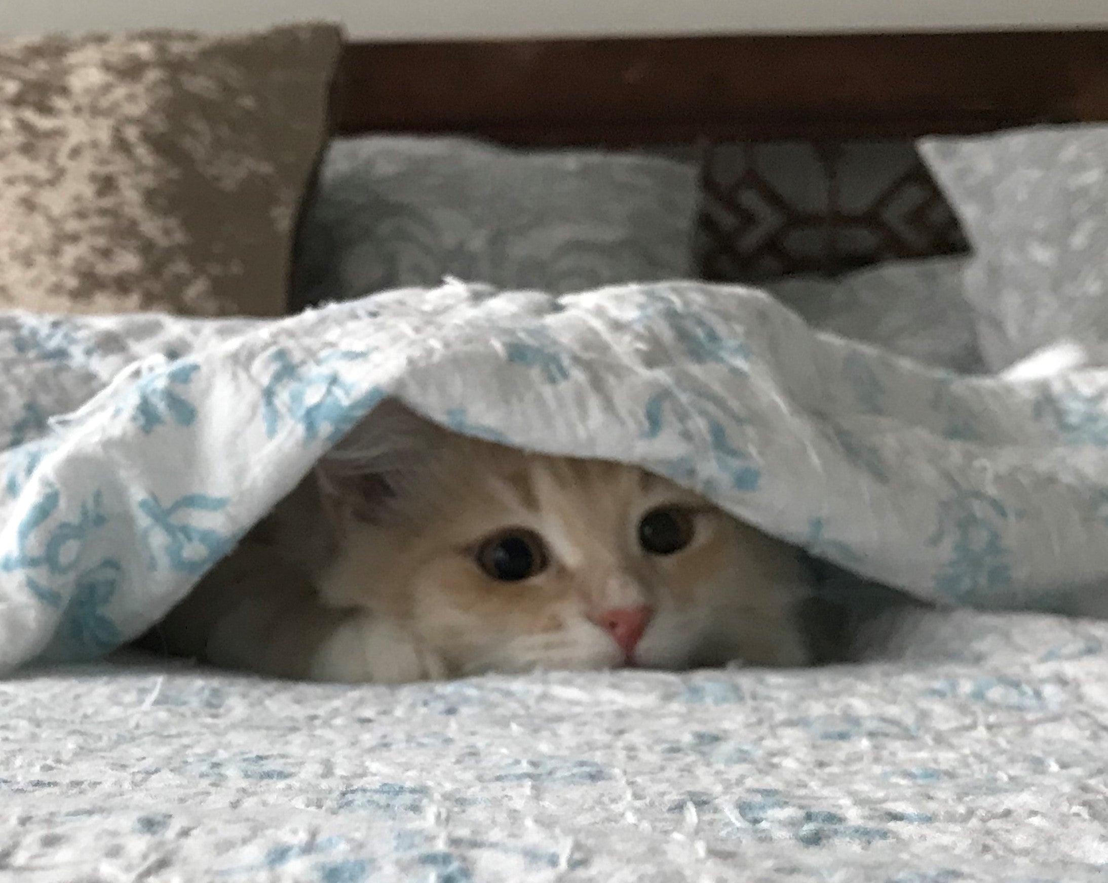
POLYGON ((963 257, 895 260, 837 280, 791 277, 766 287, 814 328, 958 373, 984 371, 963 294, 963 257))

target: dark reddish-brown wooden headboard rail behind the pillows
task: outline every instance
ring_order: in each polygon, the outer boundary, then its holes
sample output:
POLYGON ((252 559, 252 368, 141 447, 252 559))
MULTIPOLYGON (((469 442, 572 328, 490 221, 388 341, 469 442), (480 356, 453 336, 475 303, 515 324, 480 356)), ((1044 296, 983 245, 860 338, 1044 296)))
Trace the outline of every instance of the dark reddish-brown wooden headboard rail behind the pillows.
POLYGON ((1108 120, 1108 30, 353 43, 346 133, 527 145, 978 132, 1108 120))

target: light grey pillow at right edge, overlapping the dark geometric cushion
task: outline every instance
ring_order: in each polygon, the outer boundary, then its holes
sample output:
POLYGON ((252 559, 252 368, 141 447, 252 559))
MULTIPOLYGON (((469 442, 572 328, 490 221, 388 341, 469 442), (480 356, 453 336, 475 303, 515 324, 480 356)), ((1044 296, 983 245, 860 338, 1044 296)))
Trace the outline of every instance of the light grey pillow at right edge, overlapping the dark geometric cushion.
POLYGON ((974 246, 965 291, 996 371, 1060 339, 1108 341, 1108 126, 929 138, 974 246))

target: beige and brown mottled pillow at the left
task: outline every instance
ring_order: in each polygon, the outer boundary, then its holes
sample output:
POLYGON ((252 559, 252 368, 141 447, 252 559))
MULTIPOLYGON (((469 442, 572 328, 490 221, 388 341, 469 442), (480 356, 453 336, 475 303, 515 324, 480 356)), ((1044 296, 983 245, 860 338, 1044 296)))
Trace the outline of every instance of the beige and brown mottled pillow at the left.
POLYGON ((285 311, 329 25, 0 43, 0 308, 285 311))

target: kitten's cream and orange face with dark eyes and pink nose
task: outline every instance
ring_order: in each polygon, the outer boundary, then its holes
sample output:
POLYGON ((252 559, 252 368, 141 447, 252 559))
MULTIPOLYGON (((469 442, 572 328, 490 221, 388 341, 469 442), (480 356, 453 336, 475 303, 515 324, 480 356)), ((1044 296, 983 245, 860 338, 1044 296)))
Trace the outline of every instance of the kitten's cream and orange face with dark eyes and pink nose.
POLYGON ((350 484, 330 603, 404 624, 454 674, 806 659, 793 552, 642 470, 442 433, 350 484))

